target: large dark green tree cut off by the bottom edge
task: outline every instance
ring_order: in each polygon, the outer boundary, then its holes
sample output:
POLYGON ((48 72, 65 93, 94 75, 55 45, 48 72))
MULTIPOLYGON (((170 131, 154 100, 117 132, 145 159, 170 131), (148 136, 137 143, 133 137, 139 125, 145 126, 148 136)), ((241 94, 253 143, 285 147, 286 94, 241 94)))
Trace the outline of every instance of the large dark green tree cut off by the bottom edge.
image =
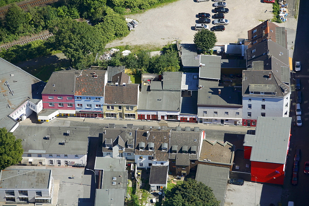
POLYGON ((218 206, 220 201, 212 191, 205 184, 188 178, 166 191, 167 200, 163 202, 163 206, 218 206))

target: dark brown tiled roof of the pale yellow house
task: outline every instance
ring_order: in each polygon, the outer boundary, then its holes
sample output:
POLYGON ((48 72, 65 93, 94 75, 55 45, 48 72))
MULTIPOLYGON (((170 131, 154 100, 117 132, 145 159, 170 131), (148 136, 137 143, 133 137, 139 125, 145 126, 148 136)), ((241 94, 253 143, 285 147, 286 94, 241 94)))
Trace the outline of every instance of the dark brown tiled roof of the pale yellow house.
POLYGON ((125 86, 115 86, 108 83, 105 86, 105 104, 115 105, 137 105, 139 84, 126 84, 125 86))

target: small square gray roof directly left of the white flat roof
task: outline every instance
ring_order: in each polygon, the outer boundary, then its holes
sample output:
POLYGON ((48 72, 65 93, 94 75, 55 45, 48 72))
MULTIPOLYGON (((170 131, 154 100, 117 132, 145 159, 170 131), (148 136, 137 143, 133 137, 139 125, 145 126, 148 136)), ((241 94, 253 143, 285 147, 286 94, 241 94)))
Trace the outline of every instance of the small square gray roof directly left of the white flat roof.
POLYGON ((181 90, 181 80, 182 80, 182 72, 164 72, 163 89, 171 91, 181 90))

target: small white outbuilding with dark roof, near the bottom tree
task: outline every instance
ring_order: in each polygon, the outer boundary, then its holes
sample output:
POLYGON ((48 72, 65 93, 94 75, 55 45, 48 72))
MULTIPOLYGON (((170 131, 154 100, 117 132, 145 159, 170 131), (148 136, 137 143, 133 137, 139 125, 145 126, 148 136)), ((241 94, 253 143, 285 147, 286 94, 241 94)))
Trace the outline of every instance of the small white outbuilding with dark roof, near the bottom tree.
POLYGON ((164 187, 167 188, 167 172, 168 166, 152 165, 150 167, 149 184, 151 191, 160 191, 163 190, 164 187))

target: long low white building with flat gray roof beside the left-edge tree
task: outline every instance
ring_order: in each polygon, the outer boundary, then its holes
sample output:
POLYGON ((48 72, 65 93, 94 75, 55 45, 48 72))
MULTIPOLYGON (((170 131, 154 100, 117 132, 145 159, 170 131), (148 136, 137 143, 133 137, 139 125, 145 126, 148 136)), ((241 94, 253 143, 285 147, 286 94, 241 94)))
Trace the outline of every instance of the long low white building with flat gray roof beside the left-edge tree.
POLYGON ((87 163, 89 127, 19 126, 23 160, 30 166, 73 166, 87 163))

